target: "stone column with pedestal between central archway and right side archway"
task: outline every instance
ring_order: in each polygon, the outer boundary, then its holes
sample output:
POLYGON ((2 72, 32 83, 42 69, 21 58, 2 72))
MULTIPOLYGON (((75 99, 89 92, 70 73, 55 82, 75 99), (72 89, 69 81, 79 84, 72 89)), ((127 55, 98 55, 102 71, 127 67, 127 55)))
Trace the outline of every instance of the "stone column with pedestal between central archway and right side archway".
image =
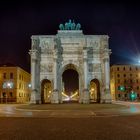
POLYGON ((84 50, 84 90, 83 90, 83 103, 85 103, 85 104, 88 104, 90 102, 87 77, 88 77, 87 50, 84 50))

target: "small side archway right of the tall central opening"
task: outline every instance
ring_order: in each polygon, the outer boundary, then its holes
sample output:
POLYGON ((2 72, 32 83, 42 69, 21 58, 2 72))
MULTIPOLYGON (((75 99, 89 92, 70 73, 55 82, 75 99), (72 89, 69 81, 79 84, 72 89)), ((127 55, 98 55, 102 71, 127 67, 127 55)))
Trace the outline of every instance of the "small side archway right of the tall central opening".
POLYGON ((91 102, 100 103, 100 83, 98 79, 90 81, 90 100, 91 102))

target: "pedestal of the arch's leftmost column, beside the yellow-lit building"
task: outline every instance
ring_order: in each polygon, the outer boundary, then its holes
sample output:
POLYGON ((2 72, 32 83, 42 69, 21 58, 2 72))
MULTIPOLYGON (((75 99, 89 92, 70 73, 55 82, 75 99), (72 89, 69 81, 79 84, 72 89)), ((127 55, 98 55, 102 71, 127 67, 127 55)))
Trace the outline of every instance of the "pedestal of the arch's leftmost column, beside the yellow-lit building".
POLYGON ((41 104, 40 94, 37 92, 36 89, 32 90, 31 92, 31 99, 29 104, 41 104))

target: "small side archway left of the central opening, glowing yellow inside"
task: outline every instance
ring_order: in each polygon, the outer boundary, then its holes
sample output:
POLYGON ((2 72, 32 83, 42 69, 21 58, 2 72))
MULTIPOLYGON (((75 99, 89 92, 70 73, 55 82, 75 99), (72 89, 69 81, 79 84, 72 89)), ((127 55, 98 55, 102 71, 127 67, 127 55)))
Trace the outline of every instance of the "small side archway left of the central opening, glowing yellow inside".
POLYGON ((41 102, 50 103, 52 94, 52 83, 48 79, 44 79, 41 82, 41 102))

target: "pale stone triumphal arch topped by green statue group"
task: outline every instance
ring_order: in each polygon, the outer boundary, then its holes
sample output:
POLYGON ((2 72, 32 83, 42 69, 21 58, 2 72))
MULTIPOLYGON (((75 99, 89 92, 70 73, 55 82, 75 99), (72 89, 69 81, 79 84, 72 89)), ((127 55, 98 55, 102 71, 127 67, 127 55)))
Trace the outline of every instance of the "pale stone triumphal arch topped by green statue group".
POLYGON ((108 35, 84 35, 81 25, 69 20, 56 35, 33 35, 31 40, 30 103, 111 103, 108 35), (72 95, 65 93, 62 79, 68 69, 78 73, 72 95))

